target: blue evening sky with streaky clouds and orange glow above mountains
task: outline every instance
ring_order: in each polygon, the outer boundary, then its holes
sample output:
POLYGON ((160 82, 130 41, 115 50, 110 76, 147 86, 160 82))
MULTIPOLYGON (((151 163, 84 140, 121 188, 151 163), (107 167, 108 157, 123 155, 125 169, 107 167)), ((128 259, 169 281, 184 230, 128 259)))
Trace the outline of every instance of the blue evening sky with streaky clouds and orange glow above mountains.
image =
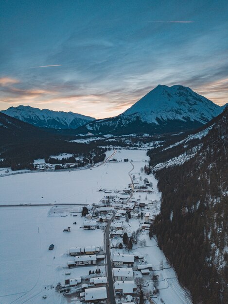
POLYGON ((112 117, 158 84, 228 102, 227 0, 1 0, 0 110, 112 117))

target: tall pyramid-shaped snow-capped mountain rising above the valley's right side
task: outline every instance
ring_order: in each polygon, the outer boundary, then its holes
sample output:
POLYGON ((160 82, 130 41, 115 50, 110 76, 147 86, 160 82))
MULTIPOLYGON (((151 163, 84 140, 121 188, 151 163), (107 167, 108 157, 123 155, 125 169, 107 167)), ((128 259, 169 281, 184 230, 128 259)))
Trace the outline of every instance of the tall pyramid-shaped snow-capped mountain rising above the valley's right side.
POLYGON ((88 123, 80 132, 166 133, 197 128, 223 108, 182 85, 158 85, 121 115, 88 123))

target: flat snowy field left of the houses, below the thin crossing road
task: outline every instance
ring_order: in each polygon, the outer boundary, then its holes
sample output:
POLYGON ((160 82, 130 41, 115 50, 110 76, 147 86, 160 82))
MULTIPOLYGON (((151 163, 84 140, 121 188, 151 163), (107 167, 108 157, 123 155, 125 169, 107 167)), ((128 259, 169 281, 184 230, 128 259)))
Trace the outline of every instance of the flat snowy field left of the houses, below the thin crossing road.
MULTIPOLYGON (((59 207, 53 207, 58 209, 59 207)), ((103 246, 103 232, 83 230, 83 218, 70 216, 69 206, 54 216, 52 207, 2 207, 0 209, 0 304, 66 303, 50 285, 65 279, 88 275, 89 270, 104 266, 68 269, 73 257, 66 253, 74 246, 103 246), (61 216, 66 215, 67 216, 61 216), (73 225, 76 221, 77 224, 73 225), (71 232, 63 232, 71 227, 71 232), (3 246, 4 244, 4 246, 3 246), (49 251, 50 244, 54 250, 49 251), (70 276, 65 272, 71 272, 70 276), (46 289, 45 289, 46 287, 46 289)), ((75 212, 80 206, 74 206, 75 212)))

